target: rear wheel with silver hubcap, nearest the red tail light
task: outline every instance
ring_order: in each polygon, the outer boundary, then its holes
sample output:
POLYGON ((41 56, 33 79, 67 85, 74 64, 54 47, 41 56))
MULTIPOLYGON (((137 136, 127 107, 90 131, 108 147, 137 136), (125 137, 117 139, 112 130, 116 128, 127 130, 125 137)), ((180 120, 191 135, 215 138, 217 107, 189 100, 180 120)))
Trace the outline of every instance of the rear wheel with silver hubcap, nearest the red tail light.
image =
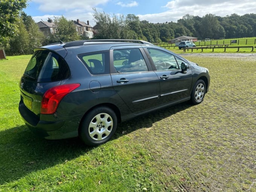
POLYGON ((85 115, 79 135, 86 145, 97 146, 110 140, 116 128, 114 111, 108 107, 97 107, 85 115))

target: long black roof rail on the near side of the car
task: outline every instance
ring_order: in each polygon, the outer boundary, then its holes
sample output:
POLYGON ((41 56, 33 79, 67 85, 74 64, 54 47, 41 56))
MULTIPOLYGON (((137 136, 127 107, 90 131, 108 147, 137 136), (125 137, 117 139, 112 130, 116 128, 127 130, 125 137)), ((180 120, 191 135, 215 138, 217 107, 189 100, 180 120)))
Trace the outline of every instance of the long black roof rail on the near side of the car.
POLYGON ((64 44, 63 47, 72 47, 72 46, 81 46, 84 45, 85 42, 130 42, 130 43, 141 43, 141 44, 150 44, 147 41, 142 40, 126 40, 126 39, 103 39, 103 40, 80 40, 80 41, 71 41, 69 43, 64 44))

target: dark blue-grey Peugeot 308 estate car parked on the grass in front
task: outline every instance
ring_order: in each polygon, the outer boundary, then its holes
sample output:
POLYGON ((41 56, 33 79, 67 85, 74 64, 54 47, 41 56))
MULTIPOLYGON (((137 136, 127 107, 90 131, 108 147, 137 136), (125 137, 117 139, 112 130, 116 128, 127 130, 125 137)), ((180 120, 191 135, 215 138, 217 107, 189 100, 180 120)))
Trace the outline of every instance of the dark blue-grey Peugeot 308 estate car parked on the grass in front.
POLYGON ((35 49, 20 80, 19 111, 46 139, 107 142, 117 123, 191 100, 203 101, 208 69, 136 40, 84 40, 35 49), (130 42, 130 43, 129 43, 130 42), (126 57, 114 58, 116 53, 126 57))

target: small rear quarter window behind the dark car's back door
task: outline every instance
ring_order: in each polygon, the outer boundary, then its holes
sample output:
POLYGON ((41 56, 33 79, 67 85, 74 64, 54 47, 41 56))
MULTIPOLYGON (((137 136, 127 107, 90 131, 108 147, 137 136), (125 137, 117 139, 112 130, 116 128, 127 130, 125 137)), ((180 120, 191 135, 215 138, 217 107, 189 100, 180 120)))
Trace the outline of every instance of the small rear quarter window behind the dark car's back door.
POLYGON ((78 55, 87 69, 93 75, 109 74, 109 52, 94 52, 78 55))

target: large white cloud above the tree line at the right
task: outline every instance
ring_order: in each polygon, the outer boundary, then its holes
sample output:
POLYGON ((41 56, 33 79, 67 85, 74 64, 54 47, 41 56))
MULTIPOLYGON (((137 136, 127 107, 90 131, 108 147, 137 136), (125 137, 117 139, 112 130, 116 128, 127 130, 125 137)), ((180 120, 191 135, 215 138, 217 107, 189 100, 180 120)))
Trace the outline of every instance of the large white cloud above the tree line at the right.
POLYGON ((150 23, 176 22, 184 15, 203 17, 206 14, 215 14, 224 17, 236 13, 244 15, 255 13, 256 2, 251 0, 172 0, 162 7, 165 11, 158 14, 137 15, 140 20, 150 23), (166 11, 168 9, 168 11, 166 11))

